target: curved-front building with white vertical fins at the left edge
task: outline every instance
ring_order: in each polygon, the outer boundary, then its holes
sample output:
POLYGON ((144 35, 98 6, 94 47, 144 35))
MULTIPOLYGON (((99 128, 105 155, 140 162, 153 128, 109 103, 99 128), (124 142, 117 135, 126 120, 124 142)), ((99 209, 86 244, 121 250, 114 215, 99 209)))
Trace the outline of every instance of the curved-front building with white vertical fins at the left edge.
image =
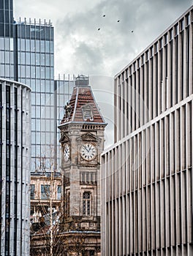
POLYGON ((1 255, 29 255, 31 89, 0 79, 1 255))

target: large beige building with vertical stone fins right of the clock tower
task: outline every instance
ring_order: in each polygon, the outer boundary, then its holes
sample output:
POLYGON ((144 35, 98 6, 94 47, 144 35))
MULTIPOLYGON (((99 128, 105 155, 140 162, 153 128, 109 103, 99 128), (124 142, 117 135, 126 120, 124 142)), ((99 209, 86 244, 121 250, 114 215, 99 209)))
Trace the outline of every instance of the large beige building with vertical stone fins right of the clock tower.
POLYGON ((193 7, 115 77, 102 255, 193 255, 193 7))

